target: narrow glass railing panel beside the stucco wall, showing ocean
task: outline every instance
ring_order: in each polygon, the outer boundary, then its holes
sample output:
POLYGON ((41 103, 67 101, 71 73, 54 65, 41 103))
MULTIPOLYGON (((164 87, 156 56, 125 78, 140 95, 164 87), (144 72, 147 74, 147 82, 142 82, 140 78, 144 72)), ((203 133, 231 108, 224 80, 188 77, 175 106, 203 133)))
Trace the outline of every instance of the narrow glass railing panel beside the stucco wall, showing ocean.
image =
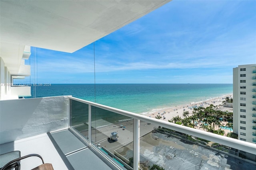
POLYGON ((70 127, 80 132, 88 140, 89 105, 70 99, 70 127))

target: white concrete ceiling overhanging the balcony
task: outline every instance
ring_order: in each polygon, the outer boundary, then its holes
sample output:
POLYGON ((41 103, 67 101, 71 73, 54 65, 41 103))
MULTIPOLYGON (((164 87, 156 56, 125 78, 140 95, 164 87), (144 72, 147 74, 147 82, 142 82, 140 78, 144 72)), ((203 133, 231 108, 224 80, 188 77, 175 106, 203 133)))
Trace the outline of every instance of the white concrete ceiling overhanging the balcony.
POLYGON ((0 56, 15 72, 24 45, 72 53, 169 1, 0 0, 0 56))

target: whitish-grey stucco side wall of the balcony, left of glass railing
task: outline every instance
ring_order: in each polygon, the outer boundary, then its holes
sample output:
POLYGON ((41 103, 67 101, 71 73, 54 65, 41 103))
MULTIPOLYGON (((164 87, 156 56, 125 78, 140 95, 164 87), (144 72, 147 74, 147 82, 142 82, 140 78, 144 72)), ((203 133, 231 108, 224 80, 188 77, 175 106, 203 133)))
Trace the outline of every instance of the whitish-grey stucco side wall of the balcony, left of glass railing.
POLYGON ((0 144, 68 128, 68 96, 0 101, 0 144))

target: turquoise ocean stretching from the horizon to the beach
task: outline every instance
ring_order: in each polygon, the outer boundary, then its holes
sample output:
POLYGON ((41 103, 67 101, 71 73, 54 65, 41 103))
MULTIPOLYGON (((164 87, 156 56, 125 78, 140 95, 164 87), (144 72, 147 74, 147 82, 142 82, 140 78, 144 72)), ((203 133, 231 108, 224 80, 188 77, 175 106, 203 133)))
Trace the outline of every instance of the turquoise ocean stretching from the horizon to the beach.
POLYGON ((232 84, 51 84, 36 86, 36 90, 32 86, 31 97, 72 95, 125 111, 145 114, 222 97, 232 94, 232 88, 232 84))

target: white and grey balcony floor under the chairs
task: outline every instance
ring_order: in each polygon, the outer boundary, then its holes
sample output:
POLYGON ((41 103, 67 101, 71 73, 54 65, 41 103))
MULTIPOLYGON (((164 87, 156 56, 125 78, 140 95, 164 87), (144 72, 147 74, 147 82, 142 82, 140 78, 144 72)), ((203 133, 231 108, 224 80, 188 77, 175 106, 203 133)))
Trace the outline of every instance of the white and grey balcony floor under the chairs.
MULTIPOLYGON (((21 156, 39 154, 44 162, 51 163, 55 170, 114 169, 109 160, 100 158, 67 129, 0 145, 0 154, 13 150, 20 150, 21 156)), ((21 160, 20 164, 21 169, 32 169, 42 164, 42 161, 30 157, 21 160)))

